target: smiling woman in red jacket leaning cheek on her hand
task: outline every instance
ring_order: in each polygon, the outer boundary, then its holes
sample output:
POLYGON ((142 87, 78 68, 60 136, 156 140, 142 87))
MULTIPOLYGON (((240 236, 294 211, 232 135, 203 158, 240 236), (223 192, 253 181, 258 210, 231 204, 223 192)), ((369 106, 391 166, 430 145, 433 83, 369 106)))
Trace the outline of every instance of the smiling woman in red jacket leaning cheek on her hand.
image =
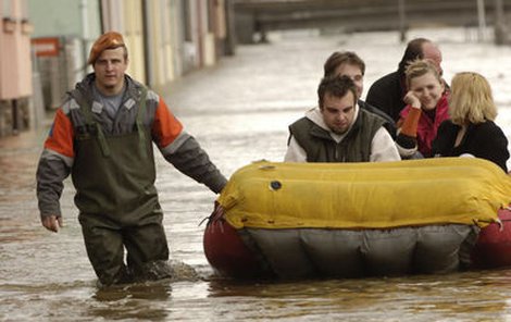
POLYGON ((397 123, 396 145, 402 159, 431 158, 438 126, 449 119, 448 92, 437 69, 426 60, 413 61, 406 75, 407 107, 397 123))

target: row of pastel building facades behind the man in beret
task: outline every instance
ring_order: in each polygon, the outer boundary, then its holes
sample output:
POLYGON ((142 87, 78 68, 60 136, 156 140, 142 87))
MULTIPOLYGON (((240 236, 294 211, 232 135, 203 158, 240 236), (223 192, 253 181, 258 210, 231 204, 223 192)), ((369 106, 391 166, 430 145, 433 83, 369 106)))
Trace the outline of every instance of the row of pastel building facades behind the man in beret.
POLYGON ((11 111, 8 116, 0 113, 0 135, 16 129, 13 100, 20 106, 25 99, 32 106, 36 116, 28 116, 27 124, 38 123, 45 113, 57 109, 65 91, 91 72, 86 65, 88 52, 104 32, 124 35, 129 52, 127 73, 159 91, 176 78, 214 65, 222 55, 234 52, 227 50, 232 0, 0 3, 0 101, 1 109, 11 111))

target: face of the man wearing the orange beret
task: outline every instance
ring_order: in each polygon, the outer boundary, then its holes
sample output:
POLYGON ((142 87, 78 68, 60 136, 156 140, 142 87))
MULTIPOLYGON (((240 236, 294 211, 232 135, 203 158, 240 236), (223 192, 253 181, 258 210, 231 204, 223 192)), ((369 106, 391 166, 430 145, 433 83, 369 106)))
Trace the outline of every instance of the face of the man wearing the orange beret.
POLYGON ((94 64, 96 85, 103 94, 117 94, 124 86, 124 73, 127 69, 124 50, 123 47, 107 49, 94 64))

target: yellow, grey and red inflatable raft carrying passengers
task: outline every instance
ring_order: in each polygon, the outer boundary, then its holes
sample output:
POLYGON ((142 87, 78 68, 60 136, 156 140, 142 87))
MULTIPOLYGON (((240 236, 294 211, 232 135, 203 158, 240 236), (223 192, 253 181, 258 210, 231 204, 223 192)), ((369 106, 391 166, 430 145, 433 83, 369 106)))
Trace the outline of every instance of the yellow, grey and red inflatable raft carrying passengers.
POLYGON ((364 277, 511 265, 511 178, 491 162, 256 162, 229 179, 203 246, 222 275, 364 277), (499 219, 500 216, 500 219, 499 219))

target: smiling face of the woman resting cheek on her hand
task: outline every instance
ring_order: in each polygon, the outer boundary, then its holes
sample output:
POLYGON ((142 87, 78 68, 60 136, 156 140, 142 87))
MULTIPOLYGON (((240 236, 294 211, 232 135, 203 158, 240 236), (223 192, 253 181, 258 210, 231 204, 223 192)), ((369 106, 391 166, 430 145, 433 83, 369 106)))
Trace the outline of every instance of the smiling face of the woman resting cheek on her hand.
POLYGON ((421 101, 421 108, 426 111, 434 110, 444 92, 444 84, 433 73, 410 79, 410 90, 421 101))

